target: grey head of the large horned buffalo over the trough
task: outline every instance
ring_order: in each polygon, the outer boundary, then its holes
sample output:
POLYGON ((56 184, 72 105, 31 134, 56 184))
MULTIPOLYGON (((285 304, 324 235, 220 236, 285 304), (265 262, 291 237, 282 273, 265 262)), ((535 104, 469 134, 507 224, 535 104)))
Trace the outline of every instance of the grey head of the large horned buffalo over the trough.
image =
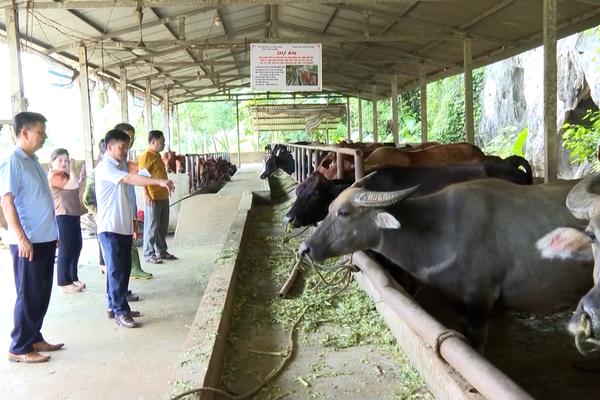
MULTIPOLYGON (((368 178, 368 176, 366 177, 368 178)), ((386 229, 400 229, 400 222, 385 208, 408 198, 418 186, 393 192, 362 189, 364 178, 340 194, 329 206, 327 217, 300 245, 300 254, 315 261, 354 251, 376 248, 386 229)))

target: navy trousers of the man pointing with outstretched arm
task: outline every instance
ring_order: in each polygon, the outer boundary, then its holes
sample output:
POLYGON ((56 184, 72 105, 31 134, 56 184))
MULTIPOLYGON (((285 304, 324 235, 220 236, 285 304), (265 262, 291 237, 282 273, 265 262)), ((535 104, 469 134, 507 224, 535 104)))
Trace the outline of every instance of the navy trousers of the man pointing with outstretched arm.
POLYGON ((108 278, 108 308, 116 315, 127 314, 131 309, 127 303, 127 289, 131 275, 131 235, 102 232, 98 235, 106 261, 108 278))

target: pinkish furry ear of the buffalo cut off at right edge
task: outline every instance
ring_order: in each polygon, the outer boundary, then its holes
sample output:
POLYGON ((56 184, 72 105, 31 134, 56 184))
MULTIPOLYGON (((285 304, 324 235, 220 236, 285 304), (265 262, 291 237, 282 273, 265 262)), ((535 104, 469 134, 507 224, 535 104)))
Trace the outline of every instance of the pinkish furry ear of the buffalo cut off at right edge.
POLYGON ((537 241, 543 258, 593 261, 592 244, 587 235, 576 228, 556 228, 537 241))

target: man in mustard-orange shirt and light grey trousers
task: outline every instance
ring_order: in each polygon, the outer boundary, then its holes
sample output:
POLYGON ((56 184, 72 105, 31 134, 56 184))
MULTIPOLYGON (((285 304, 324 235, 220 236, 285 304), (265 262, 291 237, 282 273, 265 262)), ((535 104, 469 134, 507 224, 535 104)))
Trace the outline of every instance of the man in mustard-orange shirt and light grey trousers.
MULTIPOLYGON (((155 179, 168 179, 167 169, 160 157, 165 149, 165 136, 161 131, 148 133, 148 150, 140 156, 139 169, 148 171, 155 179)), ((167 251, 169 227, 169 191, 161 186, 144 186, 144 258, 150 264, 162 260, 176 260, 167 251)))

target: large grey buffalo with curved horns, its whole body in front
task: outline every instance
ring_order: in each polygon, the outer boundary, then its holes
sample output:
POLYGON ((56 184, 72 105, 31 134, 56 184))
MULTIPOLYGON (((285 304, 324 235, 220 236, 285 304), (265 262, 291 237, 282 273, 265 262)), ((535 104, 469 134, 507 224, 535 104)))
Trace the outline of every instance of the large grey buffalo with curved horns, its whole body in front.
POLYGON ((592 284, 585 263, 543 259, 535 249, 546 232, 576 223, 564 207, 574 183, 482 179, 417 198, 410 196, 418 187, 373 192, 362 184, 333 201, 300 254, 316 261, 358 250, 382 254, 458 306, 476 346, 495 305, 554 312, 592 284))

